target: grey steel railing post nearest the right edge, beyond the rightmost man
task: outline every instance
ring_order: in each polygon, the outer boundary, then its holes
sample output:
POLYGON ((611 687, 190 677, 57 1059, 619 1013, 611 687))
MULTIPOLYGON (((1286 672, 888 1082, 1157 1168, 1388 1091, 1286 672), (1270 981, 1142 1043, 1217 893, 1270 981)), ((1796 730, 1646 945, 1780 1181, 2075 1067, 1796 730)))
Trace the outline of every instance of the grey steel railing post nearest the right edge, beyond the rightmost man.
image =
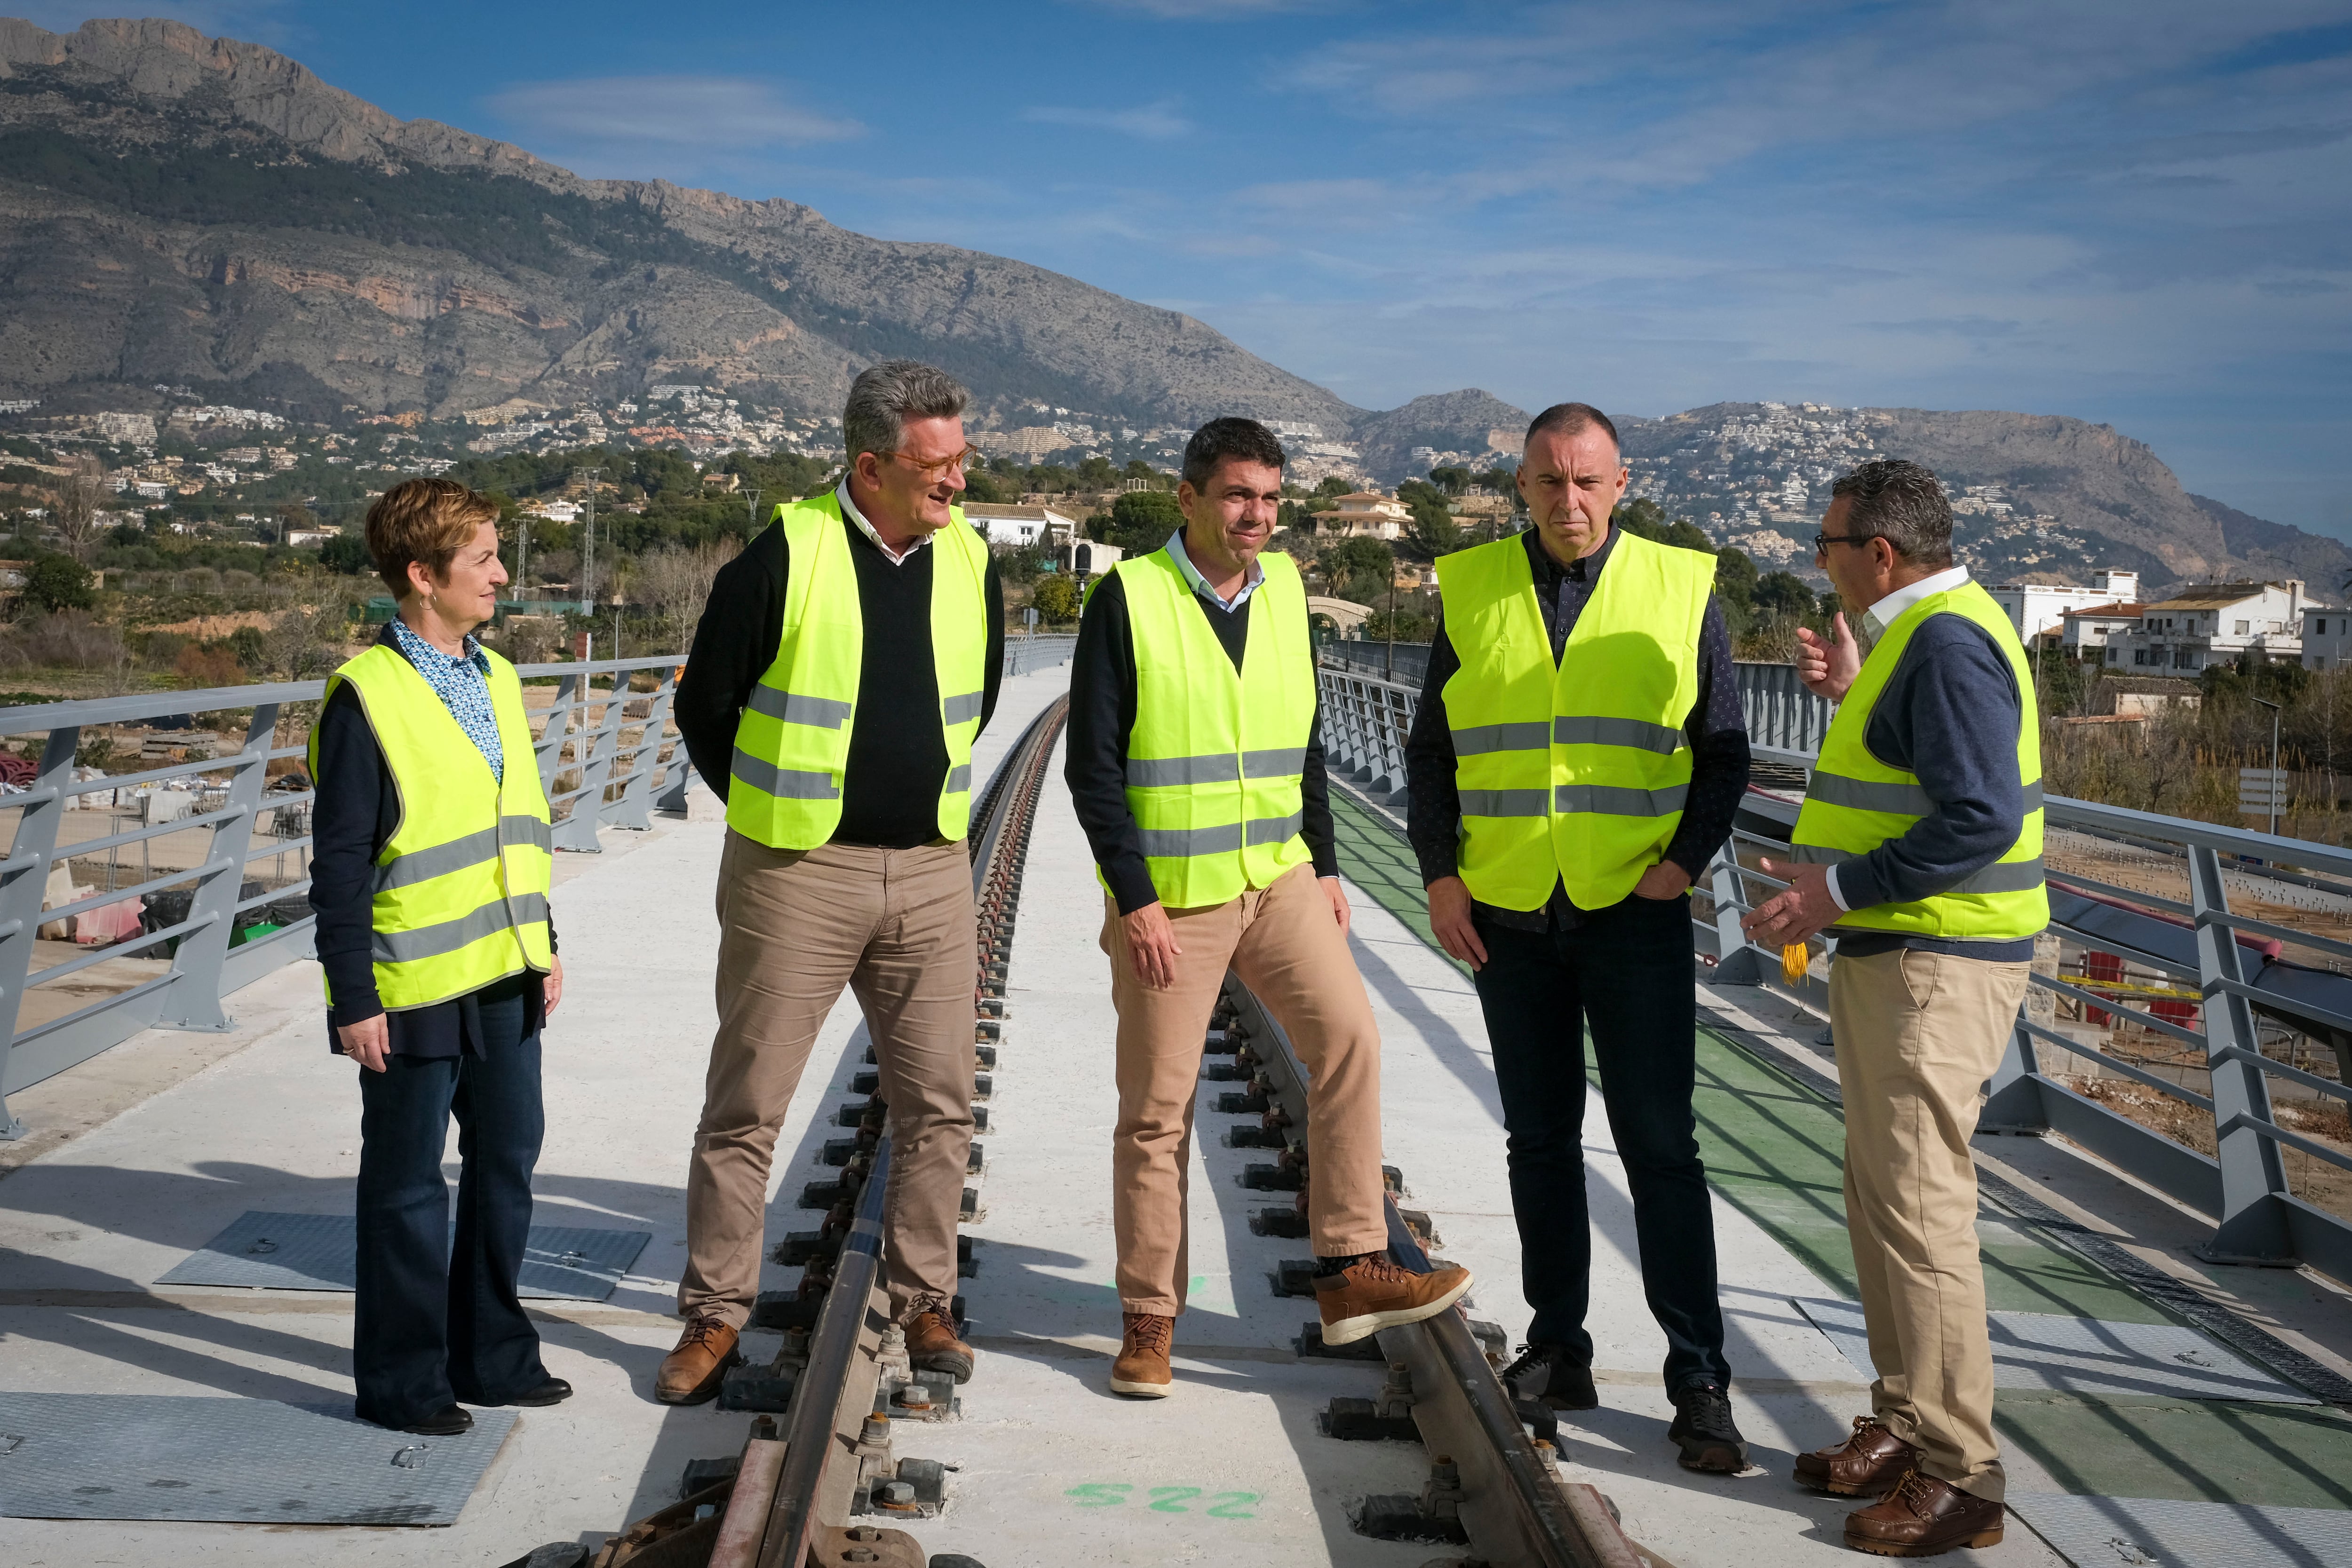
POLYGON ((2246 1060, 2263 1044, 2253 1009, 2223 983, 2246 980, 2237 933, 2227 919, 2230 889, 2220 856, 2209 844, 2190 844, 2190 907, 2197 914, 2197 980, 2204 992, 2206 1067, 2213 1074, 2213 1143, 2220 1159, 2220 1225, 2199 1251, 2209 1262, 2284 1262, 2293 1258, 2286 1229, 2286 1166, 2279 1145, 2246 1121, 2270 1124, 2270 1081, 2246 1060), (2244 1053, 2244 1056, 2241 1056, 2244 1053))

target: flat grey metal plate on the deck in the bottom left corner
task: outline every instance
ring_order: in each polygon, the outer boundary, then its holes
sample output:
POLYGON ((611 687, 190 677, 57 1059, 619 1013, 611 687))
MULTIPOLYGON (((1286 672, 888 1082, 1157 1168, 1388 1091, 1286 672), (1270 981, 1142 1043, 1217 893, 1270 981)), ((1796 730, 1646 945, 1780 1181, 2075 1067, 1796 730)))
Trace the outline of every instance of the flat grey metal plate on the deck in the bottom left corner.
POLYGON ((0 1514, 238 1523, 456 1523, 515 1425, 409 1436, 350 1406, 0 1394, 0 1514))

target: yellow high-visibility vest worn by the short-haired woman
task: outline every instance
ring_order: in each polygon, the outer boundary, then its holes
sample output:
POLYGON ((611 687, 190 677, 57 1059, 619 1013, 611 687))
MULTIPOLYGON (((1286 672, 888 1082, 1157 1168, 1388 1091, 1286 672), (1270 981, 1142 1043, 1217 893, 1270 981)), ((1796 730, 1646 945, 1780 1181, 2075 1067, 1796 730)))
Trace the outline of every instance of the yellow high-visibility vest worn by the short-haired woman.
MULTIPOLYGON (((327 679, 329 698, 346 684, 358 693, 400 790, 400 827, 376 856, 372 898, 376 997, 388 1013, 449 1001, 524 969, 546 973, 553 964, 548 797, 515 665, 487 649, 485 656, 503 783, 400 649, 376 644, 327 679)), ((318 731, 310 778, 318 778, 318 731)), ((334 1004, 332 990, 327 1001, 334 1004)))

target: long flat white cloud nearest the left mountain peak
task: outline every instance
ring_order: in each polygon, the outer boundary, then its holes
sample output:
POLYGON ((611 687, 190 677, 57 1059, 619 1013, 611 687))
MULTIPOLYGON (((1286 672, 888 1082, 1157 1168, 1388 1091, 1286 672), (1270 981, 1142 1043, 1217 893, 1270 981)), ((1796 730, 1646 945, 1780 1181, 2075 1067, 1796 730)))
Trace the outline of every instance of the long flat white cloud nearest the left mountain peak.
POLYGON ((515 82, 482 99, 517 139, 574 143, 661 143, 703 153, 847 141, 856 120, 837 120, 786 99, 774 82, 739 75, 604 75, 569 82, 515 82))

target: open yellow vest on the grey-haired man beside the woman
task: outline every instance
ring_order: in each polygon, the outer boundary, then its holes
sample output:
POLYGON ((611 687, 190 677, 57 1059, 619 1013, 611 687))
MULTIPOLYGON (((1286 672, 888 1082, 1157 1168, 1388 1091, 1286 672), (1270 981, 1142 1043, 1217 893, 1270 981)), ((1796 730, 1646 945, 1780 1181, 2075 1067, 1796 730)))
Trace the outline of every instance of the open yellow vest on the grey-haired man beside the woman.
MULTIPOLYGON (((938 837, 971 827, 971 741, 988 689, 988 545, 948 508, 931 536, 931 668, 948 776, 938 837)), ((783 524, 783 639, 736 722, 727 825, 769 849, 816 849, 842 823, 842 773, 858 715, 866 614, 842 501, 826 494, 776 508, 783 524)))

